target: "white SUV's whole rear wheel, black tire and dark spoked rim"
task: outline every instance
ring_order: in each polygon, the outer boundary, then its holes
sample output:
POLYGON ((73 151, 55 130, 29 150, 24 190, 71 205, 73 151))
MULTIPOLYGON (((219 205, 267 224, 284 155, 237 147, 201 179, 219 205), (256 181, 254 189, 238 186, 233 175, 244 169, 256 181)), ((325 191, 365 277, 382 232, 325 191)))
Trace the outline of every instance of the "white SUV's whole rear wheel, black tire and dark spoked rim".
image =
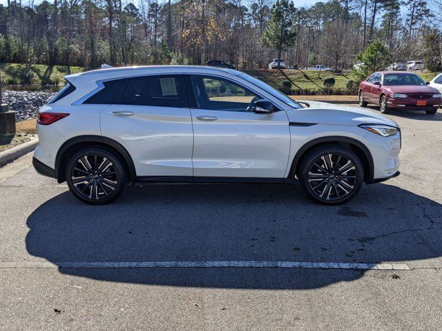
POLYGON ((102 147, 88 147, 68 161, 66 182, 74 196, 92 205, 117 199, 126 187, 127 174, 122 161, 102 147))

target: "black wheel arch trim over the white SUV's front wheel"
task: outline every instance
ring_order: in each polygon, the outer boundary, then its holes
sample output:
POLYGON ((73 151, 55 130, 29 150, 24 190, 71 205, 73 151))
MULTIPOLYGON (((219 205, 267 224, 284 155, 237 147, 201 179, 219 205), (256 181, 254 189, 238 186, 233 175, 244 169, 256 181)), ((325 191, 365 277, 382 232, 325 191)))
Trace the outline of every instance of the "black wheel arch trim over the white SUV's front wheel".
POLYGON ((320 146, 331 145, 331 144, 345 146, 346 148, 349 148, 350 150, 355 152, 356 155, 358 155, 359 159, 361 159, 361 162, 363 163, 363 167, 365 170, 364 171, 365 183, 372 183, 374 177, 374 161, 372 153, 369 151, 367 146, 361 143, 361 141, 341 136, 321 137, 305 143, 305 145, 303 145, 295 154, 295 157, 291 163, 289 178, 294 178, 295 175, 298 175, 298 170, 299 170, 298 165, 300 165, 302 159, 305 157, 305 155, 307 155, 307 153, 310 150, 318 148, 320 146))

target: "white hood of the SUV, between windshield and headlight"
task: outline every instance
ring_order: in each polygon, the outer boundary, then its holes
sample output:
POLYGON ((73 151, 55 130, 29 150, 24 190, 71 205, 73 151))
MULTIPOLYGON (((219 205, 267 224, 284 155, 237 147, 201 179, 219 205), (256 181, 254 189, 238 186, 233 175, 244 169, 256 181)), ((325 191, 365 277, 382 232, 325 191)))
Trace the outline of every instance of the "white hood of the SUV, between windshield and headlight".
POLYGON ((309 103, 310 107, 287 112, 290 121, 339 126, 358 126, 359 124, 397 126, 395 121, 371 110, 318 101, 302 100, 302 102, 309 103))

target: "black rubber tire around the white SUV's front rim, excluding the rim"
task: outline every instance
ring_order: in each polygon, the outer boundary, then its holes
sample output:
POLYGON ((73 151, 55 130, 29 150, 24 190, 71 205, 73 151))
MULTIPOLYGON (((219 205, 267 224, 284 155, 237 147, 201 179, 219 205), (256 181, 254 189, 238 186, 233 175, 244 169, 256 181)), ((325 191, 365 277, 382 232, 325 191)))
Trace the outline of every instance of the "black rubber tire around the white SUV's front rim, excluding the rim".
POLYGON ((363 164, 361 162, 361 159, 359 159, 359 157, 354 152, 352 152, 352 150, 348 150, 347 148, 343 148, 340 146, 329 146, 329 147, 318 148, 316 150, 311 151, 309 154, 307 154, 307 156, 305 157, 305 159, 302 161, 302 163, 300 165, 299 177, 300 177, 299 181, 300 181, 301 188, 302 188, 302 190, 304 190, 304 192, 307 194, 307 196, 310 199, 312 199, 318 203, 324 204, 324 205, 339 205, 341 203, 345 203, 347 201, 350 201, 351 199, 356 197, 359 190, 361 190, 361 186, 364 181, 364 168, 363 168, 363 164), (356 166, 356 172, 357 172, 356 187, 354 188, 354 190, 351 194, 349 194, 347 197, 345 197, 343 199, 334 200, 334 201, 327 201, 325 199, 320 199, 318 196, 316 196, 316 194, 313 192, 313 190, 311 190, 311 187, 309 185, 308 172, 309 172, 309 169, 311 168, 311 165, 313 165, 313 163, 318 159, 318 157, 320 157, 321 155, 323 155, 327 152, 332 153, 332 154, 342 154, 343 156, 347 157, 348 159, 351 159, 352 162, 354 163, 354 165, 356 166))

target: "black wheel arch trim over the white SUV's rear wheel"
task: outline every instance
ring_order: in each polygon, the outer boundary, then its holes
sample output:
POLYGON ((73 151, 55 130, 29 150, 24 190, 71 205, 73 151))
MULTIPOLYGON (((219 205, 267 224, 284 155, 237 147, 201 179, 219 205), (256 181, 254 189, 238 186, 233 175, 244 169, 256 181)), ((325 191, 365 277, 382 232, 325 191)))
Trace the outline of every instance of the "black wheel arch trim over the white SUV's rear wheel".
POLYGON ((65 172, 66 165, 68 163, 68 157, 81 150, 81 148, 88 146, 99 146, 110 149, 117 155, 117 157, 121 158, 121 161, 123 161, 123 165, 128 172, 129 180, 135 180, 137 174, 135 171, 133 159, 126 148, 122 146, 122 144, 107 137, 97 135, 84 135, 68 139, 59 148, 57 152, 57 157, 55 157, 55 177, 57 177, 57 181, 59 183, 63 183, 64 181, 66 181, 65 172))

